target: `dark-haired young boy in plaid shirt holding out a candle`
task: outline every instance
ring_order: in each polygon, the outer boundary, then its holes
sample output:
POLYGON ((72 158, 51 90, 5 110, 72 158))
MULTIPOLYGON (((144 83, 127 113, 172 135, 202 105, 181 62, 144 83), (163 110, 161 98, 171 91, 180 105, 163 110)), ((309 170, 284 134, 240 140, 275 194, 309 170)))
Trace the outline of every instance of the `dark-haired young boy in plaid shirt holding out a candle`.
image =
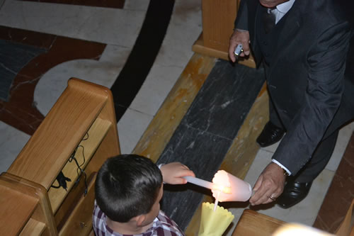
POLYGON ((172 162, 161 171, 150 159, 121 154, 107 159, 96 177, 93 230, 96 236, 184 235, 160 210, 163 181, 185 184, 195 176, 185 165, 172 162))

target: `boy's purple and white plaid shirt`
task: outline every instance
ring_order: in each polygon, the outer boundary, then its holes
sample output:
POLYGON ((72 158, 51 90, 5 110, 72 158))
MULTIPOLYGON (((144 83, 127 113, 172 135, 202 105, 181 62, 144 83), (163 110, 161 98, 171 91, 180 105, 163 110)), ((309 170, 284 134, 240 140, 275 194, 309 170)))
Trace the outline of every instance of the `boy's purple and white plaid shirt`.
MULTIPOLYGON (((108 225, 105 223, 107 216, 103 211, 98 207, 95 201, 95 208, 93 209, 93 230, 96 236, 123 236, 118 232, 114 232, 108 225)), ((178 225, 171 220, 165 213, 160 210, 159 215, 152 223, 152 227, 149 228, 146 232, 136 236, 184 236, 182 230, 178 225)), ((124 235, 130 236, 130 235, 124 235)))

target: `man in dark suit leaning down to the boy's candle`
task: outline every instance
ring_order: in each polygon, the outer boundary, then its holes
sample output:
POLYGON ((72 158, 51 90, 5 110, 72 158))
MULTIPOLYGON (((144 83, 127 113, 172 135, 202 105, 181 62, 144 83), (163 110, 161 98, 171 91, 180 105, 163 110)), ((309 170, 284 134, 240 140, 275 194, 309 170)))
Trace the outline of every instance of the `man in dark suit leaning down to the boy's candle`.
POLYGON ((257 142, 266 147, 281 140, 251 205, 276 201, 289 208, 302 201, 329 162, 338 129, 354 118, 349 2, 241 0, 229 57, 235 62, 241 44, 240 56, 252 50, 264 67, 270 121, 257 142))

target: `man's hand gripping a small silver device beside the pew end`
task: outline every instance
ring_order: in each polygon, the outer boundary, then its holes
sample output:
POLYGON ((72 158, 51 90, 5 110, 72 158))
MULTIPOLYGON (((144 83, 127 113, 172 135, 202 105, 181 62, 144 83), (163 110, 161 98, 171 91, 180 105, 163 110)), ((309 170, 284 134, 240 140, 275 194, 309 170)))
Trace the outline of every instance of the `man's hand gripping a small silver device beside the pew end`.
POLYGON ((234 51, 239 44, 244 48, 244 52, 241 52, 239 57, 249 55, 249 31, 234 30, 234 33, 232 33, 229 43, 229 57, 232 62, 236 62, 234 51))

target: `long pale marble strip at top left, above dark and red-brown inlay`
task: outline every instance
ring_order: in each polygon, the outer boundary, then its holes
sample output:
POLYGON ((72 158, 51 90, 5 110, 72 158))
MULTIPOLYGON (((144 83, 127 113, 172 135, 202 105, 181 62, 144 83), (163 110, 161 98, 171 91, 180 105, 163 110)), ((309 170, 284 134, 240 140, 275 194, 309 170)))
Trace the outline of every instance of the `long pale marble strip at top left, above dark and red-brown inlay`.
POLYGON ((6 1, 0 10, 2 26, 132 47, 144 11, 130 11, 31 1, 6 1))

